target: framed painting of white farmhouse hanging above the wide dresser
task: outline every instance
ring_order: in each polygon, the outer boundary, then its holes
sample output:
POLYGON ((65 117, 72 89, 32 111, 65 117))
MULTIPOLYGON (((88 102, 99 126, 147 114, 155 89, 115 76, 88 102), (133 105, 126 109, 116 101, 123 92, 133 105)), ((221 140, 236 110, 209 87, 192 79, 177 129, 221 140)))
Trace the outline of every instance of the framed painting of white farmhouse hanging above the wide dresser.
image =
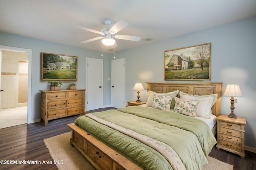
POLYGON ((42 80, 77 80, 77 56, 42 52, 42 80))

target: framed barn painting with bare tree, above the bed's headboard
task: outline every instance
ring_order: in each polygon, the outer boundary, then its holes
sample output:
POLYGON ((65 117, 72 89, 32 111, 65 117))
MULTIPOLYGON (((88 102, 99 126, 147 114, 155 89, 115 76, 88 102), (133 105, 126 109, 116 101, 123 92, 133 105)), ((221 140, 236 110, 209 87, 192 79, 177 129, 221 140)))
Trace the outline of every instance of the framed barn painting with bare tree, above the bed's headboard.
POLYGON ((210 80, 211 43, 164 51, 164 80, 210 80))

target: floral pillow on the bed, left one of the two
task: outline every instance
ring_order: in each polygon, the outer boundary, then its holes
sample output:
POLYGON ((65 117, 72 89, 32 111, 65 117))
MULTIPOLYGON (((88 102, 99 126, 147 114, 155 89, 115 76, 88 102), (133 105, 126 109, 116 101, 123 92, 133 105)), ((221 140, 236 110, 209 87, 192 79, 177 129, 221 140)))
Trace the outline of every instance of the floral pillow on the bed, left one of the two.
POLYGON ((154 94, 152 108, 170 111, 172 96, 154 94))

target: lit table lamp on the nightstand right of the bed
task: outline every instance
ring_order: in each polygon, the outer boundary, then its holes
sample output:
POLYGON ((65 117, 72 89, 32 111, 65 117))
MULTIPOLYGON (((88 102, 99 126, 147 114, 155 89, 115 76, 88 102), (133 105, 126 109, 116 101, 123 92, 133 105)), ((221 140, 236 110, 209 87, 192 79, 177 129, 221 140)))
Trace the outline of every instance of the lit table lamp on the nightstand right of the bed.
POLYGON ((231 96, 230 99, 230 109, 231 109, 231 113, 228 115, 228 117, 232 117, 232 118, 236 118, 236 115, 234 113, 234 97, 241 97, 242 96, 242 92, 240 90, 240 87, 238 84, 227 84, 226 90, 223 94, 223 96, 231 96))

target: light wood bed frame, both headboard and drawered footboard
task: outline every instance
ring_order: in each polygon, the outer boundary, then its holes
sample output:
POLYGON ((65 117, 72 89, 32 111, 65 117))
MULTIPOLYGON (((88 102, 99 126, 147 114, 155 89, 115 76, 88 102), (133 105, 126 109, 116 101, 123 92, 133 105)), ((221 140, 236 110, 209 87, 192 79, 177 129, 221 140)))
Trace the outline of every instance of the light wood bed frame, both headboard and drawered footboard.
MULTIPOLYGON (((212 114, 220 115, 220 96, 222 82, 207 82, 207 83, 147 83, 148 90, 158 93, 172 92, 180 90, 184 93, 194 95, 218 94, 218 100, 212 107, 212 114)), ((110 147, 104 145, 89 133, 75 125, 68 124, 72 129, 72 138, 70 145, 75 146, 88 161, 98 170, 137 170, 140 167, 130 162, 127 158, 121 156, 110 147), (91 153, 94 152, 94 153, 91 153), (104 157, 104 159, 102 159, 104 157)))

